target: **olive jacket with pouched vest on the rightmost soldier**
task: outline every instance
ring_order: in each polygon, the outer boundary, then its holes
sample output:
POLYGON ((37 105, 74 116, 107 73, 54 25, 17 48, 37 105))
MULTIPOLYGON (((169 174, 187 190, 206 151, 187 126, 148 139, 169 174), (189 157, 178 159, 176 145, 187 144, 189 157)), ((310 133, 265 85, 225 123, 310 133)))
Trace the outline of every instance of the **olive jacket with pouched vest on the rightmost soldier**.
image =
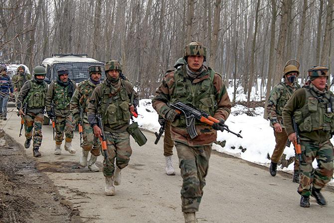
POLYGON ((302 140, 325 142, 334 133, 334 94, 319 91, 313 84, 298 89, 283 109, 283 122, 287 135, 294 133, 295 117, 302 140))

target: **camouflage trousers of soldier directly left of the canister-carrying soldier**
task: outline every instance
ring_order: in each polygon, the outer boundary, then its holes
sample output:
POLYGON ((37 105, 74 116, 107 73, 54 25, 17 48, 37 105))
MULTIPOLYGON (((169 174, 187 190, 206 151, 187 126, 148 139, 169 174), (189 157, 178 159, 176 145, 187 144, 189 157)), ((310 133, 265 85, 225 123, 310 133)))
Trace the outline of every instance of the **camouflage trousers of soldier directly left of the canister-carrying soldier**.
POLYGON ((90 151, 91 154, 93 154, 94 156, 100 156, 100 148, 101 148, 101 144, 100 144, 100 140, 96 139, 96 137, 94 137, 94 131, 93 128, 91 127, 90 124, 88 123, 84 123, 83 124, 83 142, 82 142, 82 149, 84 151, 90 151))

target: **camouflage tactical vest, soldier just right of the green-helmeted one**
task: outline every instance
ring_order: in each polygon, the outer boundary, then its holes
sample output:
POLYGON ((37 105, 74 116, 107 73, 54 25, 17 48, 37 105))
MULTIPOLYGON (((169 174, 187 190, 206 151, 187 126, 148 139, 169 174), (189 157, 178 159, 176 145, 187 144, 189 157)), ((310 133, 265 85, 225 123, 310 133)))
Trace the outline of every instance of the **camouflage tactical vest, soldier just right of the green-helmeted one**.
MULTIPOLYGON (((73 84, 73 83, 70 83, 73 84)), ((70 107, 70 101, 72 96, 68 94, 68 88, 70 87, 70 84, 66 87, 61 86, 56 81, 54 82, 54 97, 53 97, 53 103, 54 108, 58 110, 63 109, 69 109, 70 107)))

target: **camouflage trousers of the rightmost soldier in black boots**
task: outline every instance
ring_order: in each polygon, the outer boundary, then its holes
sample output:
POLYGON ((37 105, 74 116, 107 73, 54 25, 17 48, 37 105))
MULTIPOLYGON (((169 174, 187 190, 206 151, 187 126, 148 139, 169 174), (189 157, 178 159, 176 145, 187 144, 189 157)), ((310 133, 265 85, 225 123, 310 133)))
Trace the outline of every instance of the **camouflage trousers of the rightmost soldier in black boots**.
POLYGON ((301 180, 298 191, 310 196, 311 187, 322 189, 333 177, 333 145, 330 140, 325 142, 301 141, 302 162, 301 180), (314 169, 312 162, 317 159, 318 168, 314 169))

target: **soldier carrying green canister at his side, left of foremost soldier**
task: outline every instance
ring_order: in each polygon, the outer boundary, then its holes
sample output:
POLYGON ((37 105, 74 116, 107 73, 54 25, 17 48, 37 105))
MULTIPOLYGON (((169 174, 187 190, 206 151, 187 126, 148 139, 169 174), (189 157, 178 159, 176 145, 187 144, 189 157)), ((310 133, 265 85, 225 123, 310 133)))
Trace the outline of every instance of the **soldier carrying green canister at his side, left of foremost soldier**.
POLYGON ((105 195, 114 196, 114 183, 121 184, 121 170, 128 166, 132 154, 127 128, 130 123, 130 112, 134 112, 138 105, 138 96, 132 84, 120 78, 122 65, 119 61, 108 61, 105 64, 105 71, 107 79, 94 89, 88 104, 87 116, 96 137, 102 135, 97 125, 96 115, 102 116, 108 146, 106 151, 108 159, 105 156, 103 162, 103 175, 106 180, 105 195), (134 102, 131 105, 132 95, 134 102))

